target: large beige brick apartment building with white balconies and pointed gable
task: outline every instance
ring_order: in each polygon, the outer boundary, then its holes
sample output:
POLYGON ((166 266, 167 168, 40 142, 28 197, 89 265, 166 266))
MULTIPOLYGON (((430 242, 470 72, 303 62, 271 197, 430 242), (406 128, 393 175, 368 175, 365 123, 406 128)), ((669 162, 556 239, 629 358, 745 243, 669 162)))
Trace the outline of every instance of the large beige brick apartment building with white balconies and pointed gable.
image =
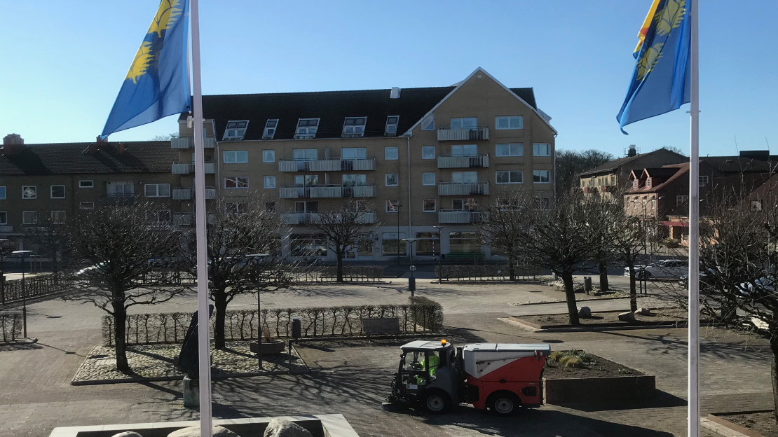
MULTIPOLYGON (((531 88, 507 88, 482 68, 455 86, 203 96, 206 198, 247 194, 291 229, 293 257, 334 259, 310 228, 344 201, 377 224, 349 259, 485 253, 473 222, 518 188, 550 205, 556 131, 531 88), (439 232, 435 226, 443 226, 439 232), (434 249, 433 249, 434 246, 434 249)), ((194 225, 194 153, 187 114, 171 146, 180 158, 173 221, 194 225)))

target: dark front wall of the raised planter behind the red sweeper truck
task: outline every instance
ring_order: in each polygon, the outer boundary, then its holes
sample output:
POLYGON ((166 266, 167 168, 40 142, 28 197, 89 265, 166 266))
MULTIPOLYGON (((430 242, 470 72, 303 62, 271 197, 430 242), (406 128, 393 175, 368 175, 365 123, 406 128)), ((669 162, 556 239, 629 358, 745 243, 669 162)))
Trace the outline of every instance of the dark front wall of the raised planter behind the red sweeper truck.
POLYGON ((653 375, 543 378, 543 399, 546 404, 650 399, 656 396, 656 386, 653 375))

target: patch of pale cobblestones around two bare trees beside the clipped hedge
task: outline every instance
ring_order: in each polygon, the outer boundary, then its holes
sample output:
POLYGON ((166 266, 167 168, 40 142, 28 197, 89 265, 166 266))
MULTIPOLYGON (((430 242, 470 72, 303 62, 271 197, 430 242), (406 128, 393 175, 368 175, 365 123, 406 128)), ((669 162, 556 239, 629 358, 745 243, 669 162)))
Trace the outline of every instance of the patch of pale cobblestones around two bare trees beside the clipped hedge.
MULTIPOLYGON (((173 365, 173 358, 180 352, 180 344, 143 344, 127 348, 130 373, 116 369, 114 347, 97 346, 75 372, 72 384, 127 383, 144 380, 183 379, 184 373, 173 365)), ((227 343, 226 350, 211 349, 212 377, 261 376, 289 372, 289 354, 263 355, 262 369, 258 369, 257 355, 251 353, 248 341, 227 343)), ((308 367, 292 348, 292 372, 307 372, 308 367)))

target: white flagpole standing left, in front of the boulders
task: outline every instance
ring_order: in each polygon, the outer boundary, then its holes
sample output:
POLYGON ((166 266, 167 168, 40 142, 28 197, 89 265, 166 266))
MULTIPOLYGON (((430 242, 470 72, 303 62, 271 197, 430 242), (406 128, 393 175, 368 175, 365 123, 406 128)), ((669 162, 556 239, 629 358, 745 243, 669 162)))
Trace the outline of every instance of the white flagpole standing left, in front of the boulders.
POLYGON ((205 240, 205 151, 203 148, 202 85, 200 82, 200 16, 198 0, 191 0, 192 109, 195 131, 195 225, 197 232, 198 358, 200 362, 200 435, 212 437, 211 338, 208 311, 208 253, 205 240))

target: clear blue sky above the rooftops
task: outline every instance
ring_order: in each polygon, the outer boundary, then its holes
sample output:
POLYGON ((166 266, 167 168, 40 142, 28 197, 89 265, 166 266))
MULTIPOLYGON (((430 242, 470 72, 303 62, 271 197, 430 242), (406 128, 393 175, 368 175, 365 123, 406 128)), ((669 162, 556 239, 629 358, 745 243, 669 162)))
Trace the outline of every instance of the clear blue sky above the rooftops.
MULTIPOLYGON (((0 0, 0 134, 94 141, 157 0, 0 0)), ((202 0, 205 94, 448 86, 482 66, 534 87, 558 149, 621 155, 689 147, 689 105, 615 121, 650 0, 257 2, 202 0)), ((778 148, 775 0, 706 0, 700 13, 701 155, 778 148)), ((142 140, 175 117, 111 135, 142 140)))

